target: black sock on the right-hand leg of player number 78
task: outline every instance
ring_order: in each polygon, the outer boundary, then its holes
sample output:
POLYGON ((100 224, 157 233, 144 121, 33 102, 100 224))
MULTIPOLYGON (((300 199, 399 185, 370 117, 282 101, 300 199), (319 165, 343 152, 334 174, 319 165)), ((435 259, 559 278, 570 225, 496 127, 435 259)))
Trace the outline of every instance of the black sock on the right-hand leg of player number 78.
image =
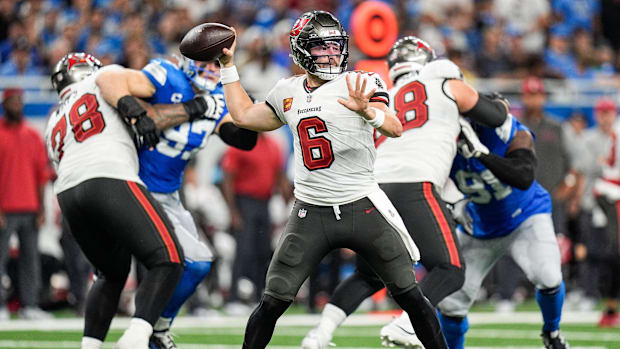
POLYGON ((134 316, 155 324, 175 291, 183 265, 165 263, 152 267, 140 283, 136 292, 136 311, 134 316))

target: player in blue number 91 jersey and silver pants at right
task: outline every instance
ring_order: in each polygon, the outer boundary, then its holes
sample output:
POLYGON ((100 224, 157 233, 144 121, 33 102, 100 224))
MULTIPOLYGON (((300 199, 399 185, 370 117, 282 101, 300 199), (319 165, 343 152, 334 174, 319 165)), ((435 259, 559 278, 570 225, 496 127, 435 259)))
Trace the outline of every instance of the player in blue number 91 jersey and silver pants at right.
POLYGON ((533 136, 510 115, 495 129, 460 122, 459 154, 450 176, 469 200, 455 214, 463 227, 459 242, 467 269, 463 287, 438 305, 448 346, 464 347, 467 312, 484 277, 509 253, 536 286, 545 347, 568 348, 559 330, 565 294, 560 251, 550 195, 534 180, 533 136))

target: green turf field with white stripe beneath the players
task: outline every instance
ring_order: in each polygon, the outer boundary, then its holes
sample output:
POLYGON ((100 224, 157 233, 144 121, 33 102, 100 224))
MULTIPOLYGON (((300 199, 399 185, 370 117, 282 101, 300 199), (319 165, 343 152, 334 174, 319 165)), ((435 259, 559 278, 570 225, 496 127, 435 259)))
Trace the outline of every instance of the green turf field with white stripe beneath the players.
MULTIPOLYGON (((467 348, 542 348, 537 315, 514 313, 497 317, 495 323, 492 315, 485 315, 482 318, 473 316, 471 319, 475 323, 471 325, 467 334, 467 348), (514 322, 510 321, 511 318, 514 322), (519 322, 519 319, 524 321, 519 322)), ((590 320, 591 317, 584 316, 584 319, 590 320)), ((283 317, 276 328, 270 347, 298 348, 301 339, 317 319, 312 315, 283 317)), ((351 321, 347 320, 336 332, 335 349, 381 347, 378 333, 380 324, 386 319, 389 318, 354 315, 351 321), (371 325, 367 325, 368 323, 371 325)), ((562 332, 573 349, 620 349, 620 329, 599 329, 592 322, 579 323, 578 320, 579 316, 572 316, 569 323, 562 325, 562 332)), ((115 321, 104 348, 112 348, 126 324, 127 319, 115 321)), ((0 348, 79 348, 81 325, 81 320, 76 319, 33 323, 31 326, 23 321, 0 323, 0 348)), ((230 349, 241 347, 244 326, 244 318, 182 317, 174 333, 180 349, 230 349)))

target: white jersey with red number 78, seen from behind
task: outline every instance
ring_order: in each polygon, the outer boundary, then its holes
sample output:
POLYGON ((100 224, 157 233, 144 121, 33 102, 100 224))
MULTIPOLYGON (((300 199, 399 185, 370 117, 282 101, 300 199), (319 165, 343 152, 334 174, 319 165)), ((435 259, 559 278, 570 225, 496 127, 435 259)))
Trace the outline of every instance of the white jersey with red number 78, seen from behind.
POLYGON ((130 131, 116 109, 105 102, 95 79, 106 66, 66 90, 48 120, 45 139, 60 193, 92 178, 114 178, 142 184, 138 153, 130 131))

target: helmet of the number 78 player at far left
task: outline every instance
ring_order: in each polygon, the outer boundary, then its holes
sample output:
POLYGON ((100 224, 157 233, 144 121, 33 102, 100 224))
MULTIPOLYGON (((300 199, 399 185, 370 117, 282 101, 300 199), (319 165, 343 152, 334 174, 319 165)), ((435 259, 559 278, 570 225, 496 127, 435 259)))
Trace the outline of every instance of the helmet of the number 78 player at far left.
POLYGON ((52 86, 60 94, 67 86, 84 80, 101 68, 95 56, 83 52, 72 52, 56 63, 52 71, 52 86))

